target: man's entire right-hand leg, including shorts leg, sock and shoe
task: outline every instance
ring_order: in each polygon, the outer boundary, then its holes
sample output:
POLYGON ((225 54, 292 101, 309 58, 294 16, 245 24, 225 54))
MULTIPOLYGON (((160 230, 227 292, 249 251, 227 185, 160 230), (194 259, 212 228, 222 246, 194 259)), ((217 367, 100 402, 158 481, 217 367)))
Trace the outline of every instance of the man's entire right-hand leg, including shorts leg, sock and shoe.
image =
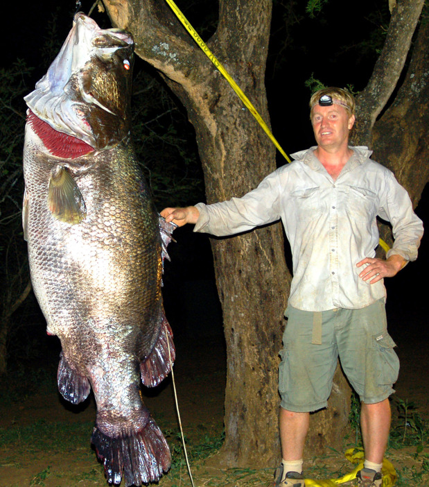
POLYGON ((362 400, 360 424, 365 449, 360 487, 383 485, 381 467, 390 427, 389 395, 399 373, 394 341, 387 333, 384 300, 356 310, 342 309, 337 343, 344 373, 362 400))

